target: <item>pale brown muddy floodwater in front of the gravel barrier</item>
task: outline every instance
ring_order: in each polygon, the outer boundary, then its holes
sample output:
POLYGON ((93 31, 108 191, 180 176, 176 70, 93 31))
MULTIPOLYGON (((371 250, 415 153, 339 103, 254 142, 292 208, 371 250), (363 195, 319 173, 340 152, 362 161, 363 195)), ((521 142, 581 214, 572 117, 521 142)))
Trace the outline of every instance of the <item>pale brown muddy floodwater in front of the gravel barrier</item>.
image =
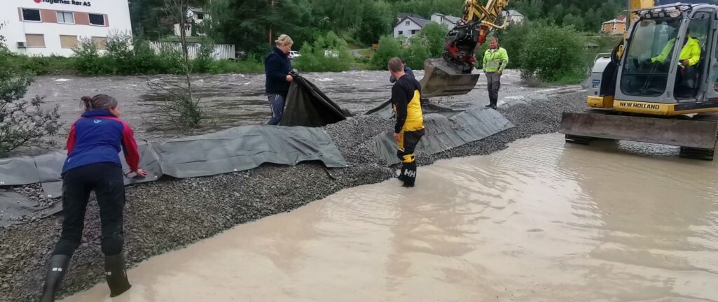
POLYGON ((239 225, 129 277, 112 301, 718 301, 718 167, 533 136, 420 167, 414 189, 392 179, 239 225))

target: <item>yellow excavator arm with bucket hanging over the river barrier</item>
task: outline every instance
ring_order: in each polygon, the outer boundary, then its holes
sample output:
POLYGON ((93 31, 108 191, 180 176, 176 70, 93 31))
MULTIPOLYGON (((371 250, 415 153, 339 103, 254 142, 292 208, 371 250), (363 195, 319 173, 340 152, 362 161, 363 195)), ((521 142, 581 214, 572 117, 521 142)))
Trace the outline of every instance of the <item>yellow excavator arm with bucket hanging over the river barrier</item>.
POLYGON ((443 57, 424 62, 424 78, 419 81, 423 98, 463 95, 474 89, 479 80, 478 74, 472 74, 476 51, 492 29, 506 27, 505 21, 496 23, 507 5, 508 0, 466 1, 462 19, 445 38, 443 57))

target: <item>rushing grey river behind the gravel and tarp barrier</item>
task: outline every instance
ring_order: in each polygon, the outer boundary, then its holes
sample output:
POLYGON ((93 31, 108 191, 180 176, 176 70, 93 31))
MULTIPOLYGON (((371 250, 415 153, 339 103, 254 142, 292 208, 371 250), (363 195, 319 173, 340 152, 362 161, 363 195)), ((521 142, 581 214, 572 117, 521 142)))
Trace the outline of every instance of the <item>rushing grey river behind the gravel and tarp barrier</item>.
MULTIPOLYGON (((480 72, 475 70, 474 72, 480 72)), ((416 78, 424 76, 422 70, 415 71, 416 78)), ((388 72, 309 72, 302 74, 317 85, 322 92, 342 108, 355 114, 364 113, 387 100, 391 95, 388 72)), ((180 84, 181 78, 174 75, 148 77, 37 77, 30 86, 27 96, 45 95, 49 105, 60 105, 62 131, 58 142, 64 142, 65 133, 80 114, 80 97, 104 93, 116 97, 121 106, 122 118, 134 127, 141 139, 170 138, 217 131, 234 126, 266 123, 271 115, 264 93, 264 74, 195 75, 193 91, 202 98, 202 107, 207 120, 202 128, 192 132, 169 131, 167 122, 158 114, 162 100, 149 90, 148 81, 164 81, 180 84), (163 128, 162 131, 153 131, 163 128)), ((167 86, 169 87, 169 86, 167 86)), ((564 90, 578 90, 579 86, 557 88, 526 88, 521 84, 518 72, 507 70, 502 77, 500 103, 528 98, 546 98, 551 93, 564 90)), ((452 108, 470 108, 488 104, 486 82, 483 75, 476 88, 467 95, 436 98, 432 100, 452 108)))

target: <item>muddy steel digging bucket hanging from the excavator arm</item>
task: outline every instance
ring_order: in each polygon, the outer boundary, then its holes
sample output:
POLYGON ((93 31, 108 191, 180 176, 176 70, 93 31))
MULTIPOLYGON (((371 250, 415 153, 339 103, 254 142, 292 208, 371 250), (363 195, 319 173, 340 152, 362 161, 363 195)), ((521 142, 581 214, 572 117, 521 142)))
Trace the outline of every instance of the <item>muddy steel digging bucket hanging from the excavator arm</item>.
POLYGON ((426 59, 424 78, 420 81, 421 97, 464 95, 474 89, 478 80, 478 74, 458 72, 443 59, 426 59))

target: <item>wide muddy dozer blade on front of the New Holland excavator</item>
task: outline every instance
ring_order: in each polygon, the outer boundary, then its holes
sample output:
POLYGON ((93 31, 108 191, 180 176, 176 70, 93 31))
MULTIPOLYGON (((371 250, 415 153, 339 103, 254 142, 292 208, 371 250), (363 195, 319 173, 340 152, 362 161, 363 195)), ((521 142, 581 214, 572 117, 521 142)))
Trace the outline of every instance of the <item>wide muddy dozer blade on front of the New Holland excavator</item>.
POLYGON ((566 113, 561 119, 559 133, 566 134, 570 143, 589 143, 592 138, 608 138, 625 141, 642 141, 681 146, 688 151, 705 151, 712 159, 716 147, 716 121, 701 121, 688 117, 649 118, 615 115, 610 111, 566 113))

